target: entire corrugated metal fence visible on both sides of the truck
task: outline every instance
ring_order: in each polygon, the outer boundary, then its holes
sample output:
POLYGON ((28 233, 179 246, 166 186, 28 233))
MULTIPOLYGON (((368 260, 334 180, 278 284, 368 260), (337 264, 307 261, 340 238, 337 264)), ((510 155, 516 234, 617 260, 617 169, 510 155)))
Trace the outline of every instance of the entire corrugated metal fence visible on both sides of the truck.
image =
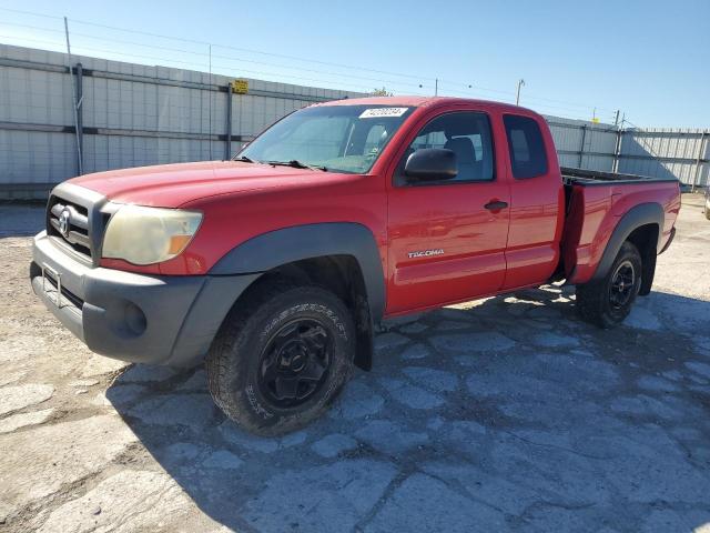
MULTIPOLYGON (((254 79, 247 94, 231 94, 232 79, 223 76, 78 56, 71 62, 83 69, 74 79, 83 93, 84 172, 225 158, 230 99, 234 153, 295 109, 362 95, 254 79)), ((78 174, 69 64, 64 53, 0 44, 0 198, 44 198, 51 184, 78 174)), ((546 119, 561 165, 612 170, 617 128, 546 119)), ((709 137, 627 130, 618 170, 707 183, 709 137)))

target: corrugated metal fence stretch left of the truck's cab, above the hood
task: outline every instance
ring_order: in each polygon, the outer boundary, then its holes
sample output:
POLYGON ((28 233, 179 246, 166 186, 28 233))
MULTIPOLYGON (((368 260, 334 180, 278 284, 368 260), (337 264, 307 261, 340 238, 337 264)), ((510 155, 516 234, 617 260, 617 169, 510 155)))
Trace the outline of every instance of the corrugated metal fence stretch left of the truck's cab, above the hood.
MULTIPOLYGON (((74 56, 83 76, 83 172, 223 159, 284 114, 361 93, 74 56)), ((0 198, 44 198, 78 174, 69 58, 0 44, 0 198)), ((77 78, 77 77, 75 77, 77 78)))

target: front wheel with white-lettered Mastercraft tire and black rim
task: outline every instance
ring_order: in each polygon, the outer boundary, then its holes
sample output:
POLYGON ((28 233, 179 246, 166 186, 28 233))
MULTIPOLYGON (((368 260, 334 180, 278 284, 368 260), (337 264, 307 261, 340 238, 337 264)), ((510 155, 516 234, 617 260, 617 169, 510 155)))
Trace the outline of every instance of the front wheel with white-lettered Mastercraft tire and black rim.
POLYGON ((245 430, 287 433, 327 410, 354 355, 355 326, 337 296, 271 283, 239 302, 217 332, 206 359, 210 393, 245 430))

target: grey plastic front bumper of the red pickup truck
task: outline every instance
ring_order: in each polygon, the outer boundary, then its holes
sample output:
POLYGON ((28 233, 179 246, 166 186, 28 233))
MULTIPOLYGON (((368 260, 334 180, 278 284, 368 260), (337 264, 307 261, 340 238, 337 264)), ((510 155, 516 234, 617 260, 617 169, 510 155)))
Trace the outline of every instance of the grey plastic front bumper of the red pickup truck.
POLYGON ((91 268, 34 238, 32 290, 93 352, 124 361, 190 366, 260 274, 142 275, 91 268), (61 288, 61 294, 58 289, 61 288))

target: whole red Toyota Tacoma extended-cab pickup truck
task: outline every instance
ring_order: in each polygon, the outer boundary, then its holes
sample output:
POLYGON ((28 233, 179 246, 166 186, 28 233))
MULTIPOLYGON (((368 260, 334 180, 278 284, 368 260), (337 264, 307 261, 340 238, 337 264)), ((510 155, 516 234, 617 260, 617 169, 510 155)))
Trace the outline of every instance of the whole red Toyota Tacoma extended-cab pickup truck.
POLYGON ((34 292, 94 352, 191 365, 224 412, 294 430, 373 364, 383 319, 550 281, 621 322, 680 209, 673 180, 562 169, 545 120, 454 98, 311 105, 232 161, 58 185, 34 292))

